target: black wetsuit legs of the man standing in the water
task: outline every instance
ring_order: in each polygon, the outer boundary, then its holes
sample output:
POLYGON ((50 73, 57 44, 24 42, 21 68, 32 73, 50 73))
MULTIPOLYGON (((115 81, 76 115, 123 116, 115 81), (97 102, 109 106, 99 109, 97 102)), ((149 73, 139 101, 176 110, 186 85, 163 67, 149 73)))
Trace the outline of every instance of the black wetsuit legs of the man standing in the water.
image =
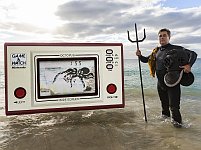
POLYGON ((159 77, 157 84, 158 95, 162 106, 162 115, 170 117, 171 111, 172 119, 178 123, 182 123, 182 117, 180 113, 180 84, 174 87, 167 87, 162 79, 163 78, 159 77))

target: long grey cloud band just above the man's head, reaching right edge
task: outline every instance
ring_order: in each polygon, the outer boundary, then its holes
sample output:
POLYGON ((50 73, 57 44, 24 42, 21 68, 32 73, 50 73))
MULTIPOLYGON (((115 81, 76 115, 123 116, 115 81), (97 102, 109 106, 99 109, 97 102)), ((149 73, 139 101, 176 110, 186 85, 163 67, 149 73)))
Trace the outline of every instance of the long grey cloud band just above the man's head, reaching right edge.
POLYGON ((196 27, 201 24, 201 12, 167 11, 162 12, 159 8, 145 9, 140 14, 133 15, 133 18, 143 24, 153 28, 182 28, 196 27))

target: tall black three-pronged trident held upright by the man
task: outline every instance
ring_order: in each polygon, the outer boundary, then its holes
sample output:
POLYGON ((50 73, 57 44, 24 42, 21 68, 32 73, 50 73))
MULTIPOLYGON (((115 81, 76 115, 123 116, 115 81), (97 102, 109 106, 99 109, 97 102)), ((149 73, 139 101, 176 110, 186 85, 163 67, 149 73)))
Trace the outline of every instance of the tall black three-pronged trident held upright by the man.
MULTIPOLYGON (((133 41, 130 38, 130 34, 129 31, 127 31, 128 33, 128 40, 132 43, 137 43, 137 50, 139 50, 139 42, 144 41, 144 39, 146 38, 146 34, 145 34, 145 29, 144 29, 144 37, 143 39, 139 40, 138 39, 138 34, 137 34, 137 25, 135 23, 135 35, 136 35, 136 40, 133 41)), ((138 56, 138 64, 139 64, 139 70, 140 70, 140 81, 141 81, 141 90, 142 90, 142 100, 143 100, 143 106, 144 106, 144 117, 145 117, 145 121, 147 122, 147 115, 146 115, 146 108, 145 108, 145 100, 144 100, 144 91, 143 91, 143 83, 142 83, 142 72, 141 72, 141 65, 140 65, 140 59, 138 56)))

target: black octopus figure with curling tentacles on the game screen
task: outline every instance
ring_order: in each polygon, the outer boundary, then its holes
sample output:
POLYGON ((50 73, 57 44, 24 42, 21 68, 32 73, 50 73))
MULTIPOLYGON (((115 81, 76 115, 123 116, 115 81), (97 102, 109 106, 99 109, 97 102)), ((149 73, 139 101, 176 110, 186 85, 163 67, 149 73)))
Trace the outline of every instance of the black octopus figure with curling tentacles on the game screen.
POLYGON ((77 68, 69 68, 65 71, 62 71, 62 72, 59 72, 55 77, 54 77, 54 80, 53 80, 53 83, 56 81, 57 77, 61 74, 65 74, 63 79, 66 81, 66 82, 70 82, 70 85, 71 87, 73 86, 72 85, 72 80, 73 78, 76 78, 78 77, 81 82, 82 82, 82 85, 83 85, 83 88, 85 88, 85 82, 83 79, 90 79, 90 78, 94 78, 94 74, 90 72, 89 68, 87 67, 83 67, 81 69, 77 69, 77 68))

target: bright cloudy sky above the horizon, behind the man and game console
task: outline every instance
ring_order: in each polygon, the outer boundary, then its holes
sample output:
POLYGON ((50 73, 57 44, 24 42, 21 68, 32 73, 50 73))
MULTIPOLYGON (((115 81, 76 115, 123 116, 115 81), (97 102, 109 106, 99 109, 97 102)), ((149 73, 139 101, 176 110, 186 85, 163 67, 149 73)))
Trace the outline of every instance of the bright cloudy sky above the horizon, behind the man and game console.
POLYGON ((143 55, 158 46, 158 31, 171 30, 171 44, 201 57, 200 0, 0 0, 0 58, 5 42, 123 43, 136 59, 134 24, 143 55))

